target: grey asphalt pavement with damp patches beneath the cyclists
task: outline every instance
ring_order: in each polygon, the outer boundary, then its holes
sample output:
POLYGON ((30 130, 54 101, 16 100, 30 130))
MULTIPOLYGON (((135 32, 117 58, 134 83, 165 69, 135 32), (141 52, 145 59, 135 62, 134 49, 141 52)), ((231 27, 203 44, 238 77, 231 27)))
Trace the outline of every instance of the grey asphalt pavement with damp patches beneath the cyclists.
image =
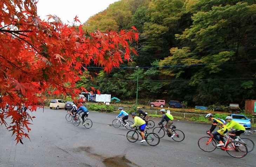
MULTIPOLYGON (((126 128, 109 126, 117 114, 90 112, 90 129, 75 127, 66 121, 65 115, 65 110, 38 110, 29 132, 31 141, 24 139, 24 145, 15 145, 11 132, 0 126, 0 167, 255 166, 255 150, 241 159, 219 149, 211 153, 201 151, 197 140, 206 135, 209 124, 175 120, 177 128, 185 133, 185 140, 175 142, 165 136, 153 147, 146 142, 131 143, 126 139, 126 128)), ((153 120, 158 123, 160 118, 153 120)), ((249 138, 256 141, 256 135, 249 138)))

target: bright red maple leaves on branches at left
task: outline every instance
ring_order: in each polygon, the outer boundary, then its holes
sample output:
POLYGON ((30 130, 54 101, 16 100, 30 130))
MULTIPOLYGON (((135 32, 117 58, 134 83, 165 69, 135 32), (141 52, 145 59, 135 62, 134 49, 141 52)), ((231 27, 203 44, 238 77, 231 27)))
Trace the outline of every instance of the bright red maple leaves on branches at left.
MULTIPOLYGON (((75 97, 75 89, 88 65, 109 72, 130 60, 129 47, 137 41, 136 29, 121 32, 84 32, 49 15, 41 20, 37 0, 0 1, 0 124, 16 135, 17 144, 29 138, 27 132, 36 111, 49 90, 75 97), (21 103, 28 108, 21 111, 21 103), (8 110, 5 108, 9 104, 8 110), (31 111, 31 112, 30 112, 31 111), (8 121, 7 121, 8 120, 8 121)), ((78 18, 74 18, 79 22, 78 18)), ((42 107, 42 106, 41 106, 42 107)))

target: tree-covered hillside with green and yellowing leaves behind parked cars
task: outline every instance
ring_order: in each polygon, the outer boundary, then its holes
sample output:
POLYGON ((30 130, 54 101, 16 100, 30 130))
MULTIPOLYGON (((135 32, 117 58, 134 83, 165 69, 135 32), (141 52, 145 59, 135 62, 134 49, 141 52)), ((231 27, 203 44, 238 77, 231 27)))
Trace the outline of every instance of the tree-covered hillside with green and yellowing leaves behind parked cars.
POLYGON ((132 26, 140 33, 133 62, 109 74, 88 67, 93 81, 85 77, 78 85, 133 101, 138 77, 141 104, 165 99, 244 106, 245 99, 256 99, 255 0, 120 0, 83 29, 132 26))

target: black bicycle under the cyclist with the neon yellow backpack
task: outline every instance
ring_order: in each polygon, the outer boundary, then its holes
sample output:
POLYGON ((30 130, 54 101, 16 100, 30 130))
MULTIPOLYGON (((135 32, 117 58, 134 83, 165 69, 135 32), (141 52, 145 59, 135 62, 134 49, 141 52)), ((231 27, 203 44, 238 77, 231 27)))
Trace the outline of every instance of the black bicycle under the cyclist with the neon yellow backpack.
MULTIPOLYGON (((171 132, 173 132, 174 134, 174 137, 172 138, 174 141, 181 142, 184 140, 185 134, 181 130, 176 129, 176 126, 171 125, 170 129, 171 132)), ((159 124, 159 126, 155 127, 153 129, 153 132, 158 134, 160 138, 163 138, 166 133, 168 134, 168 137, 171 137, 171 135, 167 131, 167 128, 163 126, 163 124, 159 124)))

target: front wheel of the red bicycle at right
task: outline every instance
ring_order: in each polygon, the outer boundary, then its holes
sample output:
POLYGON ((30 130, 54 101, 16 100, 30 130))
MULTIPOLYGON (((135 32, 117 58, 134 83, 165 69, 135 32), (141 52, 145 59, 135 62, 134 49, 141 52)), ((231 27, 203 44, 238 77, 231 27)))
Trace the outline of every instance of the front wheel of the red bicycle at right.
POLYGON ((216 149, 216 141, 210 137, 201 137, 197 144, 205 152, 212 152, 216 149))

